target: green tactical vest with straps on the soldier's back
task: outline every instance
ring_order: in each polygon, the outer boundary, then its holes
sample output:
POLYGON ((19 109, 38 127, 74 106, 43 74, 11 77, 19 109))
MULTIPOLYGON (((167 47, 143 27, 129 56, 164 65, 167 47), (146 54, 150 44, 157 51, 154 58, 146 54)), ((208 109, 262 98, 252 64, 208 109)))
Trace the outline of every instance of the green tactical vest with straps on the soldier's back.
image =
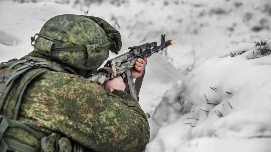
MULTIPOLYGON (((23 122, 17 121, 17 115, 27 85, 38 75, 47 71, 65 73, 69 71, 69 73, 76 74, 75 71, 67 66, 47 59, 30 56, 20 60, 12 59, 0 64, 0 114, 3 114, 1 110, 5 102, 14 102, 9 104, 11 105, 9 109, 12 109, 11 113, 6 113, 5 116, 0 115, 0 152, 6 152, 8 148, 20 152, 40 151, 40 149, 19 143, 15 140, 3 138, 3 133, 7 128, 20 128, 30 132, 34 137, 40 140, 41 148, 43 151, 46 151, 44 141, 47 135, 27 126, 23 122), (7 101, 7 98, 11 100, 7 101)), ((59 147, 59 149, 61 149, 61 147, 59 147)))

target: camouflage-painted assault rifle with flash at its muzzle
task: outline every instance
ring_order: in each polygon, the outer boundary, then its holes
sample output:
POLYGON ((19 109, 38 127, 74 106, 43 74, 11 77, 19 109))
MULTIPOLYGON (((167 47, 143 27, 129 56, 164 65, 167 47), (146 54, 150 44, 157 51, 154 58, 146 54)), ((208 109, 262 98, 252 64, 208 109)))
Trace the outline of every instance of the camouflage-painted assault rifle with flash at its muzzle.
POLYGON ((151 42, 140 46, 129 47, 128 52, 108 60, 103 68, 98 69, 98 74, 92 75, 91 77, 88 77, 88 79, 103 84, 105 81, 120 75, 126 85, 125 91, 131 94, 138 102, 138 95, 145 74, 145 69, 142 75, 135 79, 135 82, 133 81, 131 70, 134 68, 137 58, 148 58, 152 54, 173 44, 172 40, 165 41, 165 36, 165 34, 161 35, 161 45, 159 46, 157 46, 157 42, 151 42))

